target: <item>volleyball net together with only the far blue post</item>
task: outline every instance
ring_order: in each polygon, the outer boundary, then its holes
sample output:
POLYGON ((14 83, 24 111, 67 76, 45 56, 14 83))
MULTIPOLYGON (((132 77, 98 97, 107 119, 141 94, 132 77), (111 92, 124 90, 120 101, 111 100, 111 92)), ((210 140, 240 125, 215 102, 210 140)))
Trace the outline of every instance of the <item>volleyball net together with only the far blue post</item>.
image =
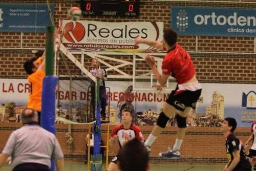
POLYGON ((90 166, 100 170, 102 167, 102 155, 100 154, 99 79, 96 79, 84 68, 83 52, 76 52, 78 53, 74 56, 60 43, 56 62, 56 73, 59 77, 57 122, 69 124, 93 122, 94 151, 91 159, 89 157, 90 166))

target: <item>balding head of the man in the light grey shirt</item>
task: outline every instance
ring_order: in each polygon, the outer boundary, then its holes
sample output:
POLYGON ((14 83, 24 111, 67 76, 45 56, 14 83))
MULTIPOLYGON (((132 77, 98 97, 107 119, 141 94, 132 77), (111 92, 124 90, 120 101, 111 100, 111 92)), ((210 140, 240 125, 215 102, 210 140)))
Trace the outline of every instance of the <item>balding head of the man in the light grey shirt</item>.
POLYGON ((35 110, 26 108, 22 111, 21 119, 23 124, 38 123, 38 114, 35 110))

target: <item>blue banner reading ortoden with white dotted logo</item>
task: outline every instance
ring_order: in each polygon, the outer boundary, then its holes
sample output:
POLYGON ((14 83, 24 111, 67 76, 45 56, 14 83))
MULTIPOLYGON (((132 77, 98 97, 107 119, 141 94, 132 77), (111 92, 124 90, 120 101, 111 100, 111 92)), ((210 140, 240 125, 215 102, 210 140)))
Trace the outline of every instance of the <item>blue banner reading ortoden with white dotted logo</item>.
POLYGON ((172 7, 180 35, 256 37, 256 9, 172 7))

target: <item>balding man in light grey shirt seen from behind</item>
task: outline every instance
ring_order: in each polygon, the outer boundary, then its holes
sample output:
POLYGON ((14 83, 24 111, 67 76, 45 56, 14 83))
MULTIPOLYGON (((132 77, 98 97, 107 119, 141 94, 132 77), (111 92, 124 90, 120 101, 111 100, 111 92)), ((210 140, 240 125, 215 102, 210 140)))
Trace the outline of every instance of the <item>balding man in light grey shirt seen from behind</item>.
POLYGON ((0 168, 11 156, 13 171, 49 171, 51 160, 55 160, 57 171, 63 170, 63 153, 58 140, 38 125, 37 112, 27 108, 21 120, 24 125, 12 132, 0 154, 0 168))

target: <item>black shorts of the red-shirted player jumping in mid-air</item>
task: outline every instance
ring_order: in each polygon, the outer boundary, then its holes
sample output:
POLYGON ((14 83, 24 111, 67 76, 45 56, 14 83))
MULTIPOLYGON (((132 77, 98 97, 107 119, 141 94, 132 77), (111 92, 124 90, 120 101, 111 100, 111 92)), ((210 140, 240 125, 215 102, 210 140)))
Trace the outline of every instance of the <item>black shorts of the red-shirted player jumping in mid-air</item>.
POLYGON ((166 102, 182 112, 185 110, 185 107, 196 109, 197 100, 201 95, 202 89, 196 91, 186 90, 180 93, 177 93, 177 90, 178 85, 176 89, 170 93, 166 102))

